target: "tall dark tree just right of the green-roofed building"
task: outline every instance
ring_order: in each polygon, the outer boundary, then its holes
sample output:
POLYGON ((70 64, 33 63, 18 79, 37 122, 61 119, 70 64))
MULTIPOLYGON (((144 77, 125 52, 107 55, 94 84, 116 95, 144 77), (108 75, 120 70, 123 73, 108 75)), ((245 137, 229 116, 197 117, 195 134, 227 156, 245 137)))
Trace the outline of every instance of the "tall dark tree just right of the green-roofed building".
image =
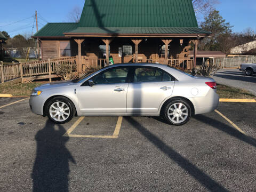
POLYGON ((211 38, 205 38, 198 45, 199 50, 222 51, 228 53, 232 27, 223 19, 217 10, 212 10, 201 23, 201 28, 213 34, 211 38))

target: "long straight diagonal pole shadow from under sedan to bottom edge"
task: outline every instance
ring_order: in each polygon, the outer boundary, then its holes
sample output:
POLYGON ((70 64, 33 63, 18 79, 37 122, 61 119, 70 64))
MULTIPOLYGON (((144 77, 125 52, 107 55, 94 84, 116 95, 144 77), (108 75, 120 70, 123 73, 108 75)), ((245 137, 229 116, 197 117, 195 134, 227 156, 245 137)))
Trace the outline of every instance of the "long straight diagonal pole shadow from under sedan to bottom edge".
POLYGON ((193 163, 189 162, 188 159, 182 157, 177 151, 172 149, 170 146, 166 145, 161 139, 156 135, 148 131, 144 126, 137 122, 132 117, 125 117, 127 122, 137 129, 145 138, 153 143, 159 150, 161 150, 167 157, 178 164, 183 170, 185 170, 189 175, 194 177, 198 182, 200 182, 205 188, 210 191, 228 191, 220 183, 214 181, 209 175, 200 170, 193 163))

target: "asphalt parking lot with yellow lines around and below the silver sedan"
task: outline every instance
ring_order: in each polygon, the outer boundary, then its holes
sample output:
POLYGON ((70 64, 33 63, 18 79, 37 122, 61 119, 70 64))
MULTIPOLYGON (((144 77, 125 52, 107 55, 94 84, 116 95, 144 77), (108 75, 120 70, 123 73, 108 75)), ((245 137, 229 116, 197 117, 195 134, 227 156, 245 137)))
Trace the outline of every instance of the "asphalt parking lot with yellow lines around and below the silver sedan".
POLYGON ((21 99, 0 98, 0 191, 256 191, 256 103, 54 125, 21 99))

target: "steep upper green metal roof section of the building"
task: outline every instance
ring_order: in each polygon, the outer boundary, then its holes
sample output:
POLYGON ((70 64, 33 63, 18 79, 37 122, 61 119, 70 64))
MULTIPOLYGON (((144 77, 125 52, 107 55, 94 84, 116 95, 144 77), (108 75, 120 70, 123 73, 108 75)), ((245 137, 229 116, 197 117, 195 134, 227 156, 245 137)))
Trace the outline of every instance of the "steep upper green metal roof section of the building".
POLYGON ((198 27, 191 0, 86 0, 78 27, 198 27))

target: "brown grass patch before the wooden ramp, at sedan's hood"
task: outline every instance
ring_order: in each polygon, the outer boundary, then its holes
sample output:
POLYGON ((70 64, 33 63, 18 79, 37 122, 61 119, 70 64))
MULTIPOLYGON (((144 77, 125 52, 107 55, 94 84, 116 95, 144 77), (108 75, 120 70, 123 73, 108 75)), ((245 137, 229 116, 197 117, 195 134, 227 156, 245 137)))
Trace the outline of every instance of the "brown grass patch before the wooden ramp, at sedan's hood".
POLYGON ((47 82, 32 82, 32 83, 20 83, 14 85, 0 85, 0 93, 12 94, 13 96, 26 96, 29 97, 32 90, 45 84, 47 82))

